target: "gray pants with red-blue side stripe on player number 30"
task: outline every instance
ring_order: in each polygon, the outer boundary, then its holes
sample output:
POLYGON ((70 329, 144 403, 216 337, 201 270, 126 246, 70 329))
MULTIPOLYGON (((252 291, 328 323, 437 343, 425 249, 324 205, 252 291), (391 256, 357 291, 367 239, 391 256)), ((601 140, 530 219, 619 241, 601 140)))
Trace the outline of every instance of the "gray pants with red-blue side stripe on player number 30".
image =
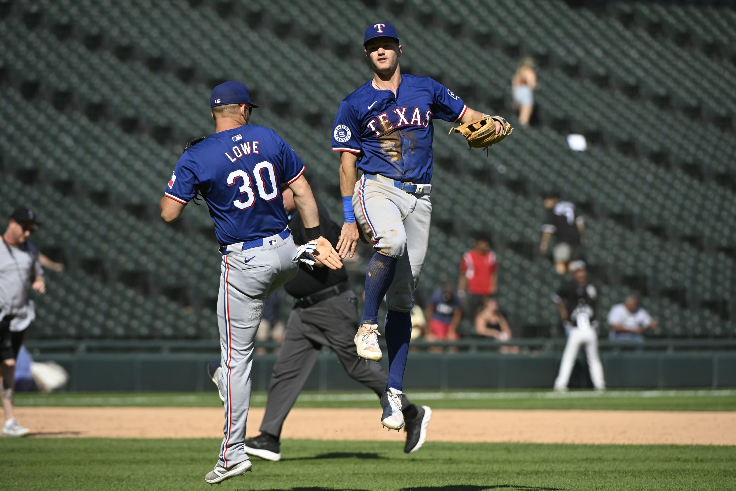
POLYGON ((261 323, 263 303, 299 268, 291 236, 271 236, 261 246, 242 250, 226 247, 217 299, 222 368, 219 387, 225 396, 224 438, 218 465, 232 467, 248 459, 244 450, 245 423, 250 406, 253 342, 261 323))

